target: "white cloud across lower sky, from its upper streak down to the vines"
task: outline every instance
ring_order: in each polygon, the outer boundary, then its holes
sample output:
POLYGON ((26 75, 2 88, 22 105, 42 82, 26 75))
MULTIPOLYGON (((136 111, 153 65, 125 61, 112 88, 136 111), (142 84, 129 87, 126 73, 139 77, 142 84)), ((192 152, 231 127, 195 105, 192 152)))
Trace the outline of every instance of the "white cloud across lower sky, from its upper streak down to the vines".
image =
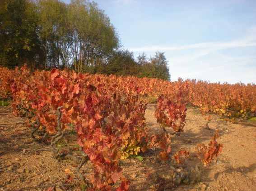
POLYGON ((211 82, 256 83, 255 47, 256 27, 252 27, 242 38, 226 42, 147 46, 130 50, 135 54, 164 51, 169 61, 171 80, 182 77, 211 82), (225 53, 224 49, 230 50, 225 53), (248 49, 250 53, 246 52, 248 49))

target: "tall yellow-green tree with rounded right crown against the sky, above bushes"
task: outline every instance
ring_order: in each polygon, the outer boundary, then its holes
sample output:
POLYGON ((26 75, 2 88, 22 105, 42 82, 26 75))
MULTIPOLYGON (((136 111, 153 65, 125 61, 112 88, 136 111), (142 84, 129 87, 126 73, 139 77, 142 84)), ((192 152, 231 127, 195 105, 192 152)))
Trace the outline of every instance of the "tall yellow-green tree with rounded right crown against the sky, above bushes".
POLYGON ((95 73, 119 47, 115 28, 96 3, 72 0, 69 5, 74 69, 95 73))

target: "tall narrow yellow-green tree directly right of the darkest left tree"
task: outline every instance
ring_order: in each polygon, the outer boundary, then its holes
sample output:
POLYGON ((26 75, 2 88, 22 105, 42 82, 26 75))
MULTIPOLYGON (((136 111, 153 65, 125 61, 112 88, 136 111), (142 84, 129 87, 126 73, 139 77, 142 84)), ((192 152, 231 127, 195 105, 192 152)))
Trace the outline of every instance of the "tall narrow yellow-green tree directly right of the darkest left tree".
POLYGON ((39 36, 44 50, 45 68, 65 67, 69 61, 70 27, 67 5, 59 0, 39 0, 39 36))

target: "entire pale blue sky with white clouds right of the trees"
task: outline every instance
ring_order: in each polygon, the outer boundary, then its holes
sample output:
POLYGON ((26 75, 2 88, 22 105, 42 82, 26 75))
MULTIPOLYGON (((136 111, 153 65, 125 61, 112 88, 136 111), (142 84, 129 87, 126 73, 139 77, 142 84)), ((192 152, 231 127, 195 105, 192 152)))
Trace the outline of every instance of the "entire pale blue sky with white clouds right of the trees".
POLYGON ((122 49, 165 53, 171 81, 256 84, 256 0, 94 1, 122 49))

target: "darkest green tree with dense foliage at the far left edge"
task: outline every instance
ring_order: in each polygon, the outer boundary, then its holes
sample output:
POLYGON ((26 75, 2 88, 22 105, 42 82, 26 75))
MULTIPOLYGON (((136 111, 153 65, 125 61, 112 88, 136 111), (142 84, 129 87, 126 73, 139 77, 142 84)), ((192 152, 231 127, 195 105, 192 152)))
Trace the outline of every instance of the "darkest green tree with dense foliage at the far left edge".
POLYGON ((38 67, 40 41, 36 4, 29 0, 0 0, 0 64, 38 67))

